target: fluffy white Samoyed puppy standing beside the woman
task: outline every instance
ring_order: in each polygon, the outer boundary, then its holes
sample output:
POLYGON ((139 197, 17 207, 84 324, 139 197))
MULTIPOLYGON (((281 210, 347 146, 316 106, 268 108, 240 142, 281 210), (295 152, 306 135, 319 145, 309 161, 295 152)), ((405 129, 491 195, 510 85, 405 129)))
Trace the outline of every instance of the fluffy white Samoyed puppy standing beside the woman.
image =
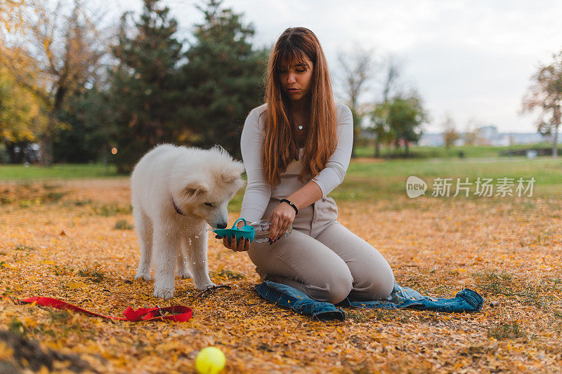
POLYGON ((221 146, 211 149, 163 144, 138 161, 131 174, 133 216, 141 260, 135 279, 150 279, 154 295, 174 297, 176 266, 198 290, 216 286, 207 267, 207 229, 228 224, 228 201, 245 185, 244 164, 221 146))

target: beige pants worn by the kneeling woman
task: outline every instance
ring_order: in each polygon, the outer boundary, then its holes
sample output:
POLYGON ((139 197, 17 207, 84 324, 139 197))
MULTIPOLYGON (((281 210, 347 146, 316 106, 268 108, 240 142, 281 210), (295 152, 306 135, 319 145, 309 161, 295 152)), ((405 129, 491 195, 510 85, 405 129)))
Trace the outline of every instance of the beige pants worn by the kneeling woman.
MULTIPOLYGON (((280 203, 270 199, 263 220, 280 203)), ((318 301, 337 304, 348 295, 355 300, 379 300, 390 295, 394 274, 384 257, 337 219, 331 197, 299 210, 292 233, 270 244, 251 243, 251 262, 262 280, 303 291, 318 301)), ((366 222, 368 225, 368 222, 366 222)))

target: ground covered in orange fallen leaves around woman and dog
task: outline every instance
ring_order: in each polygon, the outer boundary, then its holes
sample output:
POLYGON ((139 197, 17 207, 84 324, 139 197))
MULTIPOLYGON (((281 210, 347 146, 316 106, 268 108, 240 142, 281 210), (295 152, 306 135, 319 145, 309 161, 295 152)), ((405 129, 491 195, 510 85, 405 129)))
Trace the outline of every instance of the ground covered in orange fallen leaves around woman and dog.
MULTIPOLYGON (((192 373, 209 345, 226 354, 224 373, 562 370, 559 200, 336 200, 340 222, 384 254, 401 285, 443 297, 468 287, 485 305, 477 314, 346 309, 346 321, 319 322, 261 299, 247 253, 214 236, 211 279, 231 288, 197 298, 191 279, 176 279, 176 298, 153 298, 152 282, 133 279, 138 242, 126 178, 13 182, 0 192, 0 290, 8 297, 0 321, 37 340, 56 371, 192 373), (114 322, 11 300, 34 295, 114 316, 129 305, 181 304, 193 318, 114 322)), ((1 336, 1 367, 31 369, 1 336)))

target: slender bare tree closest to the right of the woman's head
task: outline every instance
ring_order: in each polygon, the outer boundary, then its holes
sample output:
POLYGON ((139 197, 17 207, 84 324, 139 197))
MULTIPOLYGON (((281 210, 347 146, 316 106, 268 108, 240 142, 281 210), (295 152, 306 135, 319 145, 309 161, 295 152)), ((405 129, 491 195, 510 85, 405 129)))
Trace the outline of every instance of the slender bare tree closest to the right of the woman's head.
POLYGON ((360 107, 359 99, 367 89, 374 72, 374 51, 355 46, 351 53, 339 53, 338 62, 343 72, 341 86, 343 86, 349 109, 353 114, 353 149, 351 156, 355 157, 355 145, 360 134, 360 123, 365 115, 365 109, 360 107))

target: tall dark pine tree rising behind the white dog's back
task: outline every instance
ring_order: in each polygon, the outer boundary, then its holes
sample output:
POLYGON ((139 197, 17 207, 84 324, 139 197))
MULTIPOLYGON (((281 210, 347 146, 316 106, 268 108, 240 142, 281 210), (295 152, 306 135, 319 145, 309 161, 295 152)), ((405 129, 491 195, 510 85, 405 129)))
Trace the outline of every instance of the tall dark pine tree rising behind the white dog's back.
POLYGON ((108 102, 114 117, 114 161, 119 172, 129 172, 150 148, 161 142, 175 142, 180 128, 178 107, 182 90, 178 65, 182 44, 174 34, 178 23, 169 18, 169 8, 158 0, 144 0, 134 36, 127 36, 122 16, 119 43, 112 54, 119 65, 112 73, 108 102))

